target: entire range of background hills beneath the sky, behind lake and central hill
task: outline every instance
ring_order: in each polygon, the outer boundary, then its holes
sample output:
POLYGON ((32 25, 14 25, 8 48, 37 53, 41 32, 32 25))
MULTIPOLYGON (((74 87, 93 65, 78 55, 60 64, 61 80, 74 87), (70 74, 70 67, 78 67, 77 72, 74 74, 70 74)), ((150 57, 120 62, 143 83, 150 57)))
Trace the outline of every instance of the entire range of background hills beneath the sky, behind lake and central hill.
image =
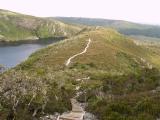
POLYGON ((97 18, 40 18, 0 9, 0 41, 69 37, 86 26, 111 27, 125 35, 160 38, 160 26, 97 18))

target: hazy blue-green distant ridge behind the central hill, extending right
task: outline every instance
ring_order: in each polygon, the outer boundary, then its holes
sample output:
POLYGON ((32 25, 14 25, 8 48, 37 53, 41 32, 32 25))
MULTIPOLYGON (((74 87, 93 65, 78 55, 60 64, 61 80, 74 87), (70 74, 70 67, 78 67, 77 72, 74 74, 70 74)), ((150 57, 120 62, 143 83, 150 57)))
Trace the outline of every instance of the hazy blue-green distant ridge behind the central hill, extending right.
POLYGON ((57 20, 71 24, 112 27, 125 35, 143 35, 160 38, 160 26, 138 24, 122 20, 57 17, 57 20))

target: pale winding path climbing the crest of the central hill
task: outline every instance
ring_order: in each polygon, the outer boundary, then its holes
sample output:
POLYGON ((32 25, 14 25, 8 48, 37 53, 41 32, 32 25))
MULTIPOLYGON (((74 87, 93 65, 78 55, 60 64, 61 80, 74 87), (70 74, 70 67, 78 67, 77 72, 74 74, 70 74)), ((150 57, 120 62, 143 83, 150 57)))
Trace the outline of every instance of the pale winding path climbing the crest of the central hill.
POLYGON ((82 55, 82 54, 86 53, 87 50, 88 50, 88 48, 89 48, 89 46, 90 46, 90 43, 91 43, 91 39, 89 38, 88 43, 87 43, 87 46, 85 47, 85 49, 84 49, 82 52, 77 53, 77 54, 71 56, 71 57, 67 60, 67 62, 66 62, 65 65, 68 66, 68 65, 71 63, 72 59, 74 59, 75 57, 77 57, 77 56, 79 56, 79 55, 82 55))

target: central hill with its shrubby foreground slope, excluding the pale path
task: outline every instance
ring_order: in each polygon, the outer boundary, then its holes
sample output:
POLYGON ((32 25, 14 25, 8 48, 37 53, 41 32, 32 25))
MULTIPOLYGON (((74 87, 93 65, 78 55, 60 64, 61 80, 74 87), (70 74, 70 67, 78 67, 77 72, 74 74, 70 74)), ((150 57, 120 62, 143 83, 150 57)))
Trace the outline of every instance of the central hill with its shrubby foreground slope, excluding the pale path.
POLYGON ((70 98, 80 86, 84 94, 79 100, 88 102, 86 110, 100 120, 155 120, 160 111, 155 59, 160 59, 157 53, 115 30, 82 32, 0 75, 0 119, 32 120, 70 110, 70 98), (81 52, 89 38, 87 52, 66 67, 67 59, 81 52))

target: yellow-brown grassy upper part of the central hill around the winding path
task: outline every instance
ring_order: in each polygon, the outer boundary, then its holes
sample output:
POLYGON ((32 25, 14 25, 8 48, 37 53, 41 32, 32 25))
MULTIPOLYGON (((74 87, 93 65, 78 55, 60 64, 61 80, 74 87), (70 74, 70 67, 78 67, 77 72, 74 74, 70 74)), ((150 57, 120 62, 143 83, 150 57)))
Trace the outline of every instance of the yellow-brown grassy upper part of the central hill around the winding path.
MULTIPOLYGON (((115 30, 101 28, 84 32, 72 39, 60 42, 55 45, 57 47, 56 49, 55 47, 49 46, 45 50, 42 50, 50 55, 46 55, 45 59, 43 59, 43 55, 41 54, 42 51, 37 52, 36 55, 42 55, 42 62, 46 60, 45 64, 43 63, 41 66, 52 66, 52 68, 53 66, 64 67, 66 59, 74 53, 81 51, 87 42, 86 40, 89 38, 93 39, 89 51, 85 56, 81 55, 81 57, 75 58, 75 62, 73 61, 70 66, 71 68, 85 67, 87 63, 90 63, 93 66, 95 65, 94 67, 96 69, 99 68, 107 71, 117 70, 125 73, 133 72, 133 69, 148 64, 152 64, 152 66, 158 65, 158 63, 152 61, 151 58, 155 57, 155 54, 152 54, 152 51, 149 49, 136 45, 132 40, 119 34, 115 30)), ((36 63, 40 64, 39 62, 36 63)), ((30 64, 29 62, 28 66, 32 66, 32 64, 30 64)), ((33 62, 33 64, 35 63, 33 62)), ((57 67, 55 69, 57 69, 57 67)))

